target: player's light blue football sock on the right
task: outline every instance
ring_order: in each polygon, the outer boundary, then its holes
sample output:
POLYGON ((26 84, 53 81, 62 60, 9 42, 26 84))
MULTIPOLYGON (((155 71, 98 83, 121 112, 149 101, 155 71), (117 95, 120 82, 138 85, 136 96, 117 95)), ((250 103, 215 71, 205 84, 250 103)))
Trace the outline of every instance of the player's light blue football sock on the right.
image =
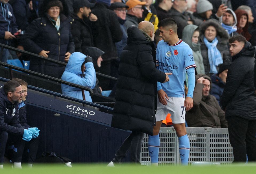
POLYGON ((182 165, 188 165, 188 157, 189 157, 189 139, 188 135, 183 135, 179 138, 179 152, 180 152, 180 159, 182 165))

